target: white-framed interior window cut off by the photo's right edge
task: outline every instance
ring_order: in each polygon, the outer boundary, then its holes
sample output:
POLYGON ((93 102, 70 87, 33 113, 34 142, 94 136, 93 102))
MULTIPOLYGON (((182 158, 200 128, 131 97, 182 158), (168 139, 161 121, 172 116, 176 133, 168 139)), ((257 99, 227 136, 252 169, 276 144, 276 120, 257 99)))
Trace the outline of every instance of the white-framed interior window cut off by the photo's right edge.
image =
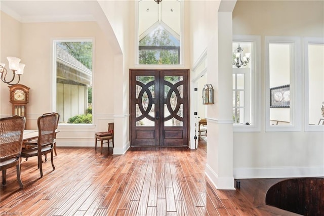
POLYGON ((324 131, 324 38, 304 38, 305 131, 324 131))

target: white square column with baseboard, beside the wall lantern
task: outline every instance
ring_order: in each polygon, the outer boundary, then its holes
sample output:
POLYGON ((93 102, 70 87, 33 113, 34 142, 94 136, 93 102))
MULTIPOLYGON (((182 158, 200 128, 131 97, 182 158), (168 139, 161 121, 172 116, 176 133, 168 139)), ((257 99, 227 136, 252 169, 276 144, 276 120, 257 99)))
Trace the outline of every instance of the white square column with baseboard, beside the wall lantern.
POLYGON ((208 78, 213 80, 215 104, 208 108, 206 175, 217 189, 235 189, 232 119, 232 11, 236 1, 221 1, 218 33, 208 48, 208 78), (212 54, 212 55, 210 55, 212 54), (212 59, 214 58, 214 59, 212 59), (215 61, 216 58, 216 61, 215 61), (211 71, 211 69, 215 71, 211 71))

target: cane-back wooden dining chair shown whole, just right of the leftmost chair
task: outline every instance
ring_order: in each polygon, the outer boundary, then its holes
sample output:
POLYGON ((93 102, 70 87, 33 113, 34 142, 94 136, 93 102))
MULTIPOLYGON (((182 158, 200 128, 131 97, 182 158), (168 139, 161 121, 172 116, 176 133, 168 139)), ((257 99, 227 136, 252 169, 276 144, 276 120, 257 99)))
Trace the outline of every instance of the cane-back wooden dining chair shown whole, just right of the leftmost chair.
POLYGON ((53 170, 55 170, 54 161, 53 161, 53 148, 54 141, 56 136, 56 125, 57 125, 58 115, 56 113, 49 113, 39 116, 37 119, 38 127, 38 138, 37 142, 25 142, 25 146, 29 146, 22 150, 21 157, 34 157, 38 158, 38 168, 41 172, 41 177, 43 177, 43 168, 42 168, 42 155, 51 153, 51 162, 53 170))

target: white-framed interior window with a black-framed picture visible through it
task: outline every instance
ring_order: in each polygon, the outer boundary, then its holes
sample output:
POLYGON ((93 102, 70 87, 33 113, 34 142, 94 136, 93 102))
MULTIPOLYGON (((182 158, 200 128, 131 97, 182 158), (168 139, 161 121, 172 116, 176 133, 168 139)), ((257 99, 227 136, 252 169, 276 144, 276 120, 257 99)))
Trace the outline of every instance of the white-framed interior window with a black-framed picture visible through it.
POLYGON ((301 130, 301 61, 299 37, 265 37, 265 129, 268 132, 301 130))

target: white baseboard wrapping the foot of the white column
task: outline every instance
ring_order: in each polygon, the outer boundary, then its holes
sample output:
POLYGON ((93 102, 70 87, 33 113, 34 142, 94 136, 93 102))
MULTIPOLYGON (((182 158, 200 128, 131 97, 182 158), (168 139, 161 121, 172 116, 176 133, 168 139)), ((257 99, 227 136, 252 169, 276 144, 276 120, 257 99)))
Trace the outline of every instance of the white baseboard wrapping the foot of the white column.
POLYGON ((206 164, 206 176, 218 190, 235 190, 233 177, 219 177, 216 172, 206 164))

